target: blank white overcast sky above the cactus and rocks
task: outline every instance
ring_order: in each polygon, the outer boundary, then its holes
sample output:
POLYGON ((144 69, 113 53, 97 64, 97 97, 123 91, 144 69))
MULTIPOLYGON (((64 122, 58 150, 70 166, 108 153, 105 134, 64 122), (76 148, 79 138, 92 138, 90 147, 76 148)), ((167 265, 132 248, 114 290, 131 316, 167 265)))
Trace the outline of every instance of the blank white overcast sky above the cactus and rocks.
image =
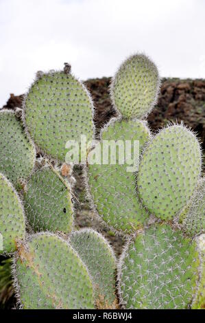
POLYGON ((0 107, 38 70, 112 76, 134 52, 161 76, 205 78, 205 0, 0 0, 0 107))

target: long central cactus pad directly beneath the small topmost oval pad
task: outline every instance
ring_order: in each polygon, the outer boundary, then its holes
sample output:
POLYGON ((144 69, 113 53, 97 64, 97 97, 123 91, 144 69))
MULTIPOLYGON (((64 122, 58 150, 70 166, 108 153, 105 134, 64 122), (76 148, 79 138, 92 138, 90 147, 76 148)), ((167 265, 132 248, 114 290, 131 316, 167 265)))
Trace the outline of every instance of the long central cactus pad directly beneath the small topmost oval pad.
MULTIPOLYGON (((111 122, 102 133, 103 140, 134 140, 139 152, 149 140, 149 129, 139 120, 111 122)), ((118 159, 118 158, 117 158, 118 159)), ((99 215, 117 230, 132 232, 147 219, 136 194, 135 172, 127 171, 128 164, 88 165, 88 192, 99 215)))

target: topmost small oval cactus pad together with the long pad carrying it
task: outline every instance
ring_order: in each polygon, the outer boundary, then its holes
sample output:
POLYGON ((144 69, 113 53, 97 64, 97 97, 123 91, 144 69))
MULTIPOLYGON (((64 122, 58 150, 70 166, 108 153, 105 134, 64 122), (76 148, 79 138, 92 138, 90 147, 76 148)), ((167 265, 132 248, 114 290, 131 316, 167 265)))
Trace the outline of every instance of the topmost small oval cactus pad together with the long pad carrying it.
MULTIPOLYGON (((139 142, 139 154, 150 139, 146 122, 141 119, 152 110, 160 85, 156 65, 145 55, 125 60, 115 74, 110 94, 121 118, 111 120, 101 131, 101 140, 139 142)), ((133 156, 134 157, 134 156, 133 156)), ((128 164, 88 165, 88 194, 93 205, 108 225, 132 232, 147 220, 147 212, 136 192, 136 173, 127 171, 128 164)))

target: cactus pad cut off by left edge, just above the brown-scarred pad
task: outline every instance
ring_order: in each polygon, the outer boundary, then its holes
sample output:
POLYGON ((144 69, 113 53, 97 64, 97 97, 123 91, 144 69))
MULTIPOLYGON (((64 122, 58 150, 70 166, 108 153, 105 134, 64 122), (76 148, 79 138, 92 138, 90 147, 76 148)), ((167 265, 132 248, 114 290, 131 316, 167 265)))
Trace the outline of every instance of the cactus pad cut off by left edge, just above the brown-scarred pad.
POLYGON ((25 238, 23 206, 12 184, 0 173, 0 234, 3 237, 1 253, 14 252, 17 239, 25 238))

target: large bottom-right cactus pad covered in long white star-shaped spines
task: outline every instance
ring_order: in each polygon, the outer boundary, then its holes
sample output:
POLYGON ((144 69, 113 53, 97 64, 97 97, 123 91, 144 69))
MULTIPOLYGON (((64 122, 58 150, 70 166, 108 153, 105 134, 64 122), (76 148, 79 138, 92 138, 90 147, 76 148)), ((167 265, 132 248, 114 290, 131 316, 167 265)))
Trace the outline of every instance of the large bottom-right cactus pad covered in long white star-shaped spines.
POLYGON ((119 266, 127 309, 186 309, 197 289, 197 243, 169 225, 145 229, 125 247, 119 266))

